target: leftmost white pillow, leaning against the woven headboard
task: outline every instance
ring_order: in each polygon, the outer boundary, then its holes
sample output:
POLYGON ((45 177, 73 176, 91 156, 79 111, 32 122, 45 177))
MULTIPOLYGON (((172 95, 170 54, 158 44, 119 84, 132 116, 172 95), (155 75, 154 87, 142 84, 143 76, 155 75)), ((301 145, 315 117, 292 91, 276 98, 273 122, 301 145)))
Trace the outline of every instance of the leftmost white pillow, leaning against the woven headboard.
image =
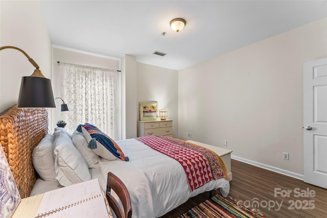
POLYGON ((34 168, 44 181, 57 181, 53 156, 54 139, 54 136, 46 134, 32 152, 34 168))

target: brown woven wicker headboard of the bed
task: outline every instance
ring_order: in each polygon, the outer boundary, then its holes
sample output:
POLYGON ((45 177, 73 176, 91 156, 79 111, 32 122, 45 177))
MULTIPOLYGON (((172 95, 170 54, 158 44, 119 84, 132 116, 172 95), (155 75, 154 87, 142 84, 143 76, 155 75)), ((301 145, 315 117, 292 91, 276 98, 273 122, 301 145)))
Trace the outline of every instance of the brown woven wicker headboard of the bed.
POLYGON ((29 197, 36 181, 32 151, 48 132, 45 108, 12 106, 0 115, 0 143, 21 198, 29 197))

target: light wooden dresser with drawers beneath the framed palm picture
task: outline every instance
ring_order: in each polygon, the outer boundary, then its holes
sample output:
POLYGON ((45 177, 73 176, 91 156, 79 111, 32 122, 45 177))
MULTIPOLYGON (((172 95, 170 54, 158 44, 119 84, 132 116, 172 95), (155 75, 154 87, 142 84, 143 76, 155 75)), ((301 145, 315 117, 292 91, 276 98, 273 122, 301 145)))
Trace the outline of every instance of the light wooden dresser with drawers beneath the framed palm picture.
POLYGON ((137 137, 173 135, 172 120, 137 121, 137 137))

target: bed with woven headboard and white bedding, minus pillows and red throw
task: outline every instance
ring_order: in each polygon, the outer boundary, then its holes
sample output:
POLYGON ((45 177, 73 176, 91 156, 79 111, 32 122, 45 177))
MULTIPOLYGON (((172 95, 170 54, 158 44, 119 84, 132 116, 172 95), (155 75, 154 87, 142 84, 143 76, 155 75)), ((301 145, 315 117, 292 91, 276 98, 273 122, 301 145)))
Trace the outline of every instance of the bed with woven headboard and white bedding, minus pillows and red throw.
MULTIPOLYGON (((46 109, 13 106, 0 115, 0 130, 0 141, 21 198, 63 187, 56 181, 39 178, 32 162, 33 149, 49 136, 46 109)), ((87 179, 98 178, 105 188, 108 171, 118 176, 131 195, 133 217, 159 217, 204 191, 220 188, 224 196, 229 192, 226 177, 191 191, 183 167, 174 159, 136 139, 115 142, 129 161, 98 157, 97 163, 88 168, 90 177, 87 179)))

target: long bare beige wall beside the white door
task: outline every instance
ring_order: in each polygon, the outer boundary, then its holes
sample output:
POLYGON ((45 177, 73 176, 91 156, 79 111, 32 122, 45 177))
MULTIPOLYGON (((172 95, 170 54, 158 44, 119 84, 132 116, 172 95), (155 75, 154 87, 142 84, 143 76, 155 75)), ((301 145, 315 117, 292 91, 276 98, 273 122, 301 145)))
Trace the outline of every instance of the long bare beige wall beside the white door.
POLYGON ((303 61, 327 56, 327 18, 178 72, 178 136, 303 175, 303 61), (289 152, 290 160, 282 159, 289 152))

